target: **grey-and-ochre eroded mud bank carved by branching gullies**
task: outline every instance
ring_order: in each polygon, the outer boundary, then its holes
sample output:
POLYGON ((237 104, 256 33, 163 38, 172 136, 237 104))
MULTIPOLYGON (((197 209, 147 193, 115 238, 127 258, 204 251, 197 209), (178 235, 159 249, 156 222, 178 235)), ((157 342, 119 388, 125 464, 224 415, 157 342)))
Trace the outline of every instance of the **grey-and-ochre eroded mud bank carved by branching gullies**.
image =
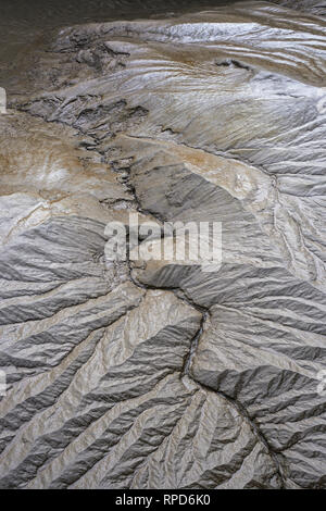
POLYGON ((18 62, 2 488, 326 487, 326 21, 283 3, 63 28, 18 62), (130 211, 222 222, 222 267, 108 265, 130 211))

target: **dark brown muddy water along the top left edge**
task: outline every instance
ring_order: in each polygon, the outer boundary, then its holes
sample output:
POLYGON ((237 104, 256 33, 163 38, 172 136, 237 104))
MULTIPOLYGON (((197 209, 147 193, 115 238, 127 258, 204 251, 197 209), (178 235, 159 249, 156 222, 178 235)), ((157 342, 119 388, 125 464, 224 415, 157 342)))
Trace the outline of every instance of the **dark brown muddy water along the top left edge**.
POLYGON ((118 18, 161 17, 227 0, 1 0, 0 80, 8 65, 37 35, 50 28, 118 18))

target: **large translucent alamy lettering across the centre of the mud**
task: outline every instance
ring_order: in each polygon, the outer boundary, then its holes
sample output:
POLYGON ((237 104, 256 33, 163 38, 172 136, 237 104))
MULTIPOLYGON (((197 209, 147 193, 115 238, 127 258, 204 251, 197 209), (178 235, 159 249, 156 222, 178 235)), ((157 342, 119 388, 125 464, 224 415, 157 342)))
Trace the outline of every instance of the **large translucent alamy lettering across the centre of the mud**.
POLYGON ((204 272, 216 272, 222 264, 221 222, 140 222, 129 213, 128 225, 110 222, 104 230, 105 260, 166 261, 200 265, 204 272))

